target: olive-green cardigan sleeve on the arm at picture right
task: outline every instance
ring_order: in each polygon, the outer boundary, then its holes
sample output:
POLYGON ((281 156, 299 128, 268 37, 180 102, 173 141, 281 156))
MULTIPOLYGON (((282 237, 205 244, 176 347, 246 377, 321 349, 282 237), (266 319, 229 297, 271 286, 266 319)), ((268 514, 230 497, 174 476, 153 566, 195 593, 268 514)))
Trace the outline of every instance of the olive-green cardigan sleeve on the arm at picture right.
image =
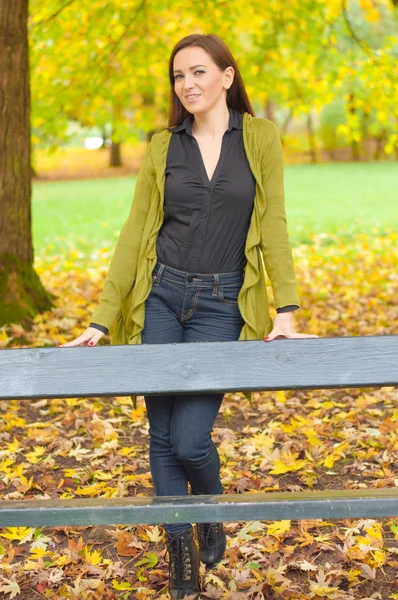
POLYGON ((261 155, 266 207, 260 222, 261 252, 271 281, 275 308, 300 307, 285 212, 282 144, 275 123, 268 119, 264 122, 261 155))

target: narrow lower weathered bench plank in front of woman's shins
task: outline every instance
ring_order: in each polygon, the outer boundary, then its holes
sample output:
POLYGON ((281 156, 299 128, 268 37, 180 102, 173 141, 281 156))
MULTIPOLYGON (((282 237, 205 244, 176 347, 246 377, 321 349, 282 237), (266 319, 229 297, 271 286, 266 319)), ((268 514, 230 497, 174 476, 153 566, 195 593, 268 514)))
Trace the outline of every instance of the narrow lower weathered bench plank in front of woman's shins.
POLYGON ((216 496, 7 500, 0 503, 0 527, 353 519, 395 515, 398 515, 398 488, 216 496))

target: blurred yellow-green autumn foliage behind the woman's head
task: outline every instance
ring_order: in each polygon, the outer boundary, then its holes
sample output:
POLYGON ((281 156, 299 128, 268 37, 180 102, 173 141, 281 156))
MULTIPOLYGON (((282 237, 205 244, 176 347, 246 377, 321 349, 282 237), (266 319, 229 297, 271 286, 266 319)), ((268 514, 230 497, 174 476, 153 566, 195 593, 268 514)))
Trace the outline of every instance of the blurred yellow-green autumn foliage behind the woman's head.
POLYGON ((54 145, 70 120, 110 124, 115 145, 161 129, 172 47, 189 33, 216 32, 236 56, 259 116, 280 115, 282 135, 293 119, 305 119, 313 162, 323 141, 315 124, 336 101, 343 108, 337 146, 351 144, 357 160, 374 136, 391 154, 397 30, 390 0, 31 0, 33 125, 54 145))

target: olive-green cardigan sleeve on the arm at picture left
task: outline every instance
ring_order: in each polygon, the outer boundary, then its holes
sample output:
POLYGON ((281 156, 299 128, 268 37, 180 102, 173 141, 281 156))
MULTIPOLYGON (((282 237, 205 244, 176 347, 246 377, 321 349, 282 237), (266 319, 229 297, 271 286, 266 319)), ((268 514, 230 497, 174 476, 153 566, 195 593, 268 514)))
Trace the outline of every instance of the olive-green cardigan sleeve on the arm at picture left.
POLYGON ((135 281, 138 254, 155 180, 149 143, 137 176, 129 216, 116 243, 98 306, 91 316, 92 323, 107 329, 112 326, 124 298, 135 281))

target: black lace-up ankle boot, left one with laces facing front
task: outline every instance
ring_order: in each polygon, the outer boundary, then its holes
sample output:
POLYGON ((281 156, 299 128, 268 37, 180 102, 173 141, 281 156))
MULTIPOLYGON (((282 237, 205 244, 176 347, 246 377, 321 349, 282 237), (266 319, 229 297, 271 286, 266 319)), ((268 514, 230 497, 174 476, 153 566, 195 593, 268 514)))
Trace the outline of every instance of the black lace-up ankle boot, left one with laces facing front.
POLYGON ((166 531, 169 554, 169 594, 171 600, 180 600, 196 594, 199 598, 199 556, 192 528, 182 533, 166 531))

